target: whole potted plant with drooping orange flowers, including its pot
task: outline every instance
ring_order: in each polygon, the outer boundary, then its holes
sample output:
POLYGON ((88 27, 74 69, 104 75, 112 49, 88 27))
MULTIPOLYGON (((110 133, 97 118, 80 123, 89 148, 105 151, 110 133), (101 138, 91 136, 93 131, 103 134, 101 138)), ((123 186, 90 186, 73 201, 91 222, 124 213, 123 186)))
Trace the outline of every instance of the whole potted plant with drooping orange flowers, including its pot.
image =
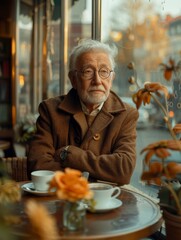
MULTIPOLYGON (((170 81, 173 74, 178 81, 181 61, 175 64, 174 60, 170 59, 168 64, 161 63, 160 66, 166 81, 170 81)), ((177 240, 180 239, 181 234, 181 162, 174 161, 171 151, 181 153, 181 138, 179 136, 181 123, 177 123, 174 127, 171 124, 168 101, 173 96, 169 93, 168 88, 158 82, 145 83, 143 87, 140 87, 134 63, 130 63, 128 68, 134 72, 134 76, 129 79, 129 82, 135 84, 138 89, 132 96, 137 109, 142 104, 145 105, 155 101, 163 114, 163 121, 171 136, 170 139, 156 141, 142 149, 141 154, 144 153, 144 164, 141 180, 148 184, 160 186, 159 204, 163 210, 167 239, 177 240), (153 156, 156 157, 155 161, 152 161, 153 156), (169 162, 167 161, 168 157, 171 158, 169 162), (174 230, 172 230, 173 225, 176 226, 174 230)))

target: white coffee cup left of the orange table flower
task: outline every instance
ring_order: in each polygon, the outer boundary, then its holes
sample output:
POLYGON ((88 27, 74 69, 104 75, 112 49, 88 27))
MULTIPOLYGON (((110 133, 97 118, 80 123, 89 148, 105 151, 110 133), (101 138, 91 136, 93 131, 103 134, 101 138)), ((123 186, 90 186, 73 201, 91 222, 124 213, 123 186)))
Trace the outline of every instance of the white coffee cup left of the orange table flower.
POLYGON ((49 170, 37 170, 31 173, 31 180, 37 191, 47 191, 49 182, 53 178, 54 172, 49 170))

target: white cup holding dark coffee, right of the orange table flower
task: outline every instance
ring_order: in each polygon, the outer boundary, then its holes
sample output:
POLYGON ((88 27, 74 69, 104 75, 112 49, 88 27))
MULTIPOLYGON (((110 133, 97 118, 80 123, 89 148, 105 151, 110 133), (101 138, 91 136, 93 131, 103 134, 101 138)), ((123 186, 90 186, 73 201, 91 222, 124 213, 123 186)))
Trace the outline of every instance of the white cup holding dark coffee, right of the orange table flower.
POLYGON ((119 187, 114 187, 107 183, 90 183, 89 188, 93 191, 95 208, 106 208, 111 200, 118 197, 121 193, 119 187))

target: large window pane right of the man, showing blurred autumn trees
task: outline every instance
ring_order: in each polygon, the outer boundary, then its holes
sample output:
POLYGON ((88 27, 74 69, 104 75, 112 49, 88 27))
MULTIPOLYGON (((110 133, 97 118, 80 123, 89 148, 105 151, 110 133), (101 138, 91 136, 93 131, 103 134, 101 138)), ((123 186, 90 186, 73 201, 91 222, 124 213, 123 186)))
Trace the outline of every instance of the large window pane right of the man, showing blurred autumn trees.
MULTIPOLYGON (((134 62, 140 86, 145 82, 160 82, 168 87, 170 93, 174 93, 169 108, 174 110, 175 120, 181 122, 181 80, 173 75, 171 81, 165 81, 160 68, 160 64, 168 64, 170 58, 175 63, 181 59, 178 1, 105 0, 102 4, 102 40, 115 43, 119 49, 114 90, 126 97, 136 91, 128 83, 133 72, 127 65, 134 62)), ((153 107, 154 111, 151 109, 152 112, 149 112, 151 123, 163 126, 161 111, 157 106, 153 107)), ((173 111, 170 113, 173 114, 173 111)))

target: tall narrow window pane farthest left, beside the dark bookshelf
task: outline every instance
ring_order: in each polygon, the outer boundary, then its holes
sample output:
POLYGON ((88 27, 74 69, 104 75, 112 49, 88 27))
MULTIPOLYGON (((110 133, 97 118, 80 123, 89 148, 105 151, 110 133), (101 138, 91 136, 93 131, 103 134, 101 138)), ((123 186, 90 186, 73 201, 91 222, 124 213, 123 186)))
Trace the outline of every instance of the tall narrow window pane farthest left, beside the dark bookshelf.
POLYGON ((32 7, 20 2, 18 21, 19 47, 17 58, 17 116, 24 117, 31 112, 30 104, 30 59, 32 39, 32 7))

